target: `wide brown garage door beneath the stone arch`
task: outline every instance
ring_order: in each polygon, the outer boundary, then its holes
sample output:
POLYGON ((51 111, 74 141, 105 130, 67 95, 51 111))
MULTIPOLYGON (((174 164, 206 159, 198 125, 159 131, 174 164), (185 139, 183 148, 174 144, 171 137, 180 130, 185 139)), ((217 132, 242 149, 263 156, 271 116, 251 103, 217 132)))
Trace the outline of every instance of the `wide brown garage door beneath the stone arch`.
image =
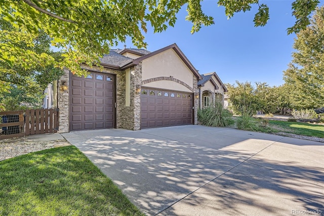
POLYGON ((192 124, 193 94, 172 90, 141 91, 141 128, 192 124))

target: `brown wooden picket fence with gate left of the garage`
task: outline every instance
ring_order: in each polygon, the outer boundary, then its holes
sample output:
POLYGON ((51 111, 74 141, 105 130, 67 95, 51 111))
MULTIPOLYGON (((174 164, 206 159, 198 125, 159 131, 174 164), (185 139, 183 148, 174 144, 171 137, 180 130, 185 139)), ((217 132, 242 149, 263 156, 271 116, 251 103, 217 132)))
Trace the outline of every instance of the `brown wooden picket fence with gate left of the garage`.
POLYGON ((59 109, 0 112, 0 139, 32 134, 56 133, 59 109))

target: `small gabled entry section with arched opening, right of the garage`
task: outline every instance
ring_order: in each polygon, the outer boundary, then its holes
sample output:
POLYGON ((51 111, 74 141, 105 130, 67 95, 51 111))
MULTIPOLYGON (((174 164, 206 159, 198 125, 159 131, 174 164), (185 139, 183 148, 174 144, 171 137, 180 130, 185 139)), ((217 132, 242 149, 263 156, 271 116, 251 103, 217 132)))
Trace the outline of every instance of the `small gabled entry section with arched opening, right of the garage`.
POLYGON ((209 107, 216 99, 221 100, 224 107, 224 94, 227 92, 225 85, 215 72, 201 75, 202 80, 198 81, 199 108, 209 107))

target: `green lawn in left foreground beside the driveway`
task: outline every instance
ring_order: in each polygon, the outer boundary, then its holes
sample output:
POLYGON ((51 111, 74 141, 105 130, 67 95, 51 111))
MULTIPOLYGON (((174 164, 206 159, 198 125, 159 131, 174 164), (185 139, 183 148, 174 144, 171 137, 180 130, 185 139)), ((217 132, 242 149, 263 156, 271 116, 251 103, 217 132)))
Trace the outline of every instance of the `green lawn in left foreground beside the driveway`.
POLYGON ((0 215, 144 214, 69 146, 0 161, 0 215))

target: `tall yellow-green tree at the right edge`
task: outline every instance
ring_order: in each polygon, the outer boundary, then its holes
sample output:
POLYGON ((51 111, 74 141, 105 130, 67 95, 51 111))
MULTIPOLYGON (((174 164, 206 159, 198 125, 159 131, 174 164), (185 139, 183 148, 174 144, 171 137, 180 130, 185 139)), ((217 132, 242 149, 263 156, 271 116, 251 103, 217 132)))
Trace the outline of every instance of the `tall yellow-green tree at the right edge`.
POLYGON ((292 86, 291 102, 296 109, 324 106, 324 7, 318 8, 311 24, 297 34, 293 60, 284 71, 292 86))

